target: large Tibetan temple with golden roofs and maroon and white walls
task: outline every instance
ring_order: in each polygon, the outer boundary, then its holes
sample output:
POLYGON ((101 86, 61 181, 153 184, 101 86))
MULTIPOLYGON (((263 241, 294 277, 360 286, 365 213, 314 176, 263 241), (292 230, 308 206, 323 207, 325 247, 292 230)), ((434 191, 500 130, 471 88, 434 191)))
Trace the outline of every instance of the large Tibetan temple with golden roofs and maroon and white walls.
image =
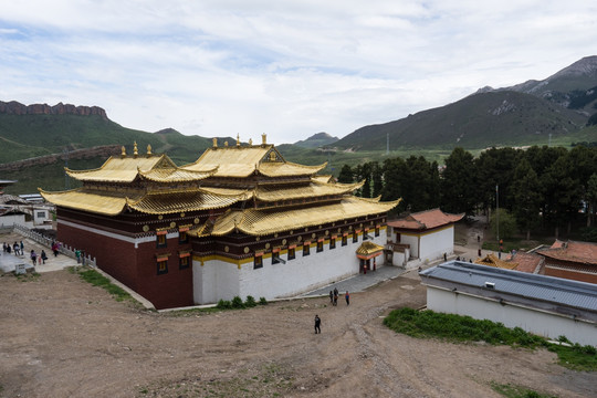
POLYGON ((363 182, 332 182, 317 175, 325 164, 286 161, 262 138, 214 138, 181 167, 135 144, 97 169, 66 169, 82 188, 40 191, 57 239, 156 308, 292 296, 366 272, 398 201, 355 197, 363 182))

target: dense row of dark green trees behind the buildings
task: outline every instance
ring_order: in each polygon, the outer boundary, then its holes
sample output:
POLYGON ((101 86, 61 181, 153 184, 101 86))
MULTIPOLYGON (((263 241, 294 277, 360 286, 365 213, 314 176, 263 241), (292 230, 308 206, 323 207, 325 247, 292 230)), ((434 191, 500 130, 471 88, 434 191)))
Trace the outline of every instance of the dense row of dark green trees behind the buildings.
POLYGON ((496 207, 514 216, 521 231, 561 227, 568 232, 579 217, 594 222, 597 205, 597 148, 491 148, 473 157, 454 148, 440 168, 422 156, 344 165, 339 182, 365 180, 357 195, 402 198, 395 210, 421 211, 440 207, 452 213, 488 212, 496 207), (498 202, 499 201, 499 202, 498 202))

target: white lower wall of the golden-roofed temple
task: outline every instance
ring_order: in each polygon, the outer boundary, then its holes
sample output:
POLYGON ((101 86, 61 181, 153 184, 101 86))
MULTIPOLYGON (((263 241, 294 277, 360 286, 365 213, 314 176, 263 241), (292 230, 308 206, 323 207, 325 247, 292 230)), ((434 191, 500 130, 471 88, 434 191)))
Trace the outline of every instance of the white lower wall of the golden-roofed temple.
MULTIPOLYGON (((369 235, 373 232, 369 231, 369 235)), ((386 243, 386 230, 379 231, 373 242, 384 245, 386 243)), ((203 265, 199 261, 192 262, 193 296, 196 304, 217 303, 219 300, 231 300, 240 296, 245 300, 252 295, 255 300, 265 297, 293 296, 333 282, 358 274, 359 259, 356 250, 363 243, 363 234, 358 242, 353 243, 349 235, 347 244, 342 245, 342 237, 336 239, 336 248, 329 249, 329 243, 324 243, 324 250, 317 253, 316 241, 312 242, 310 255, 303 256, 302 245, 296 247, 294 260, 287 260, 287 251, 283 251, 280 258, 286 263, 272 264, 272 258, 263 259, 263 266, 254 270, 254 262, 243 263, 241 269, 237 264, 221 260, 206 261, 203 265)), ((384 261, 378 256, 378 261, 384 261)), ((379 263, 378 265, 381 265, 379 263)))

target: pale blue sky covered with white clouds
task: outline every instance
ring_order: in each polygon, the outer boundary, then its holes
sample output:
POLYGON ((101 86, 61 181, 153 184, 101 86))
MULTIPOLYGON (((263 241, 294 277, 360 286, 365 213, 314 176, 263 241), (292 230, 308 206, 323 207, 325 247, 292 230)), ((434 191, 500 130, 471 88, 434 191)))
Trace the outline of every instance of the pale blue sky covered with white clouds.
POLYGON ((594 0, 28 0, 0 9, 0 101, 129 128, 293 143, 542 80, 597 54, 594 0))

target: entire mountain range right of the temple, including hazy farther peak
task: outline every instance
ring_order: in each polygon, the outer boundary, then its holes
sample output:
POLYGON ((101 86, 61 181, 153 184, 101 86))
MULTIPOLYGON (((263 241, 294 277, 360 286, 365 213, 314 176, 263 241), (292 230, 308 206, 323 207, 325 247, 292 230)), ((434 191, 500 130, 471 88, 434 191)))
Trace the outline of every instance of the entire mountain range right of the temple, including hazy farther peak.
POLYGON ((484 148, 547 144, 570 138, 597 112, 597 56, 587 56, 544 81, 483 87, 453 104, 406 118, 362 127, 335 146, 353 150, 484 148))

